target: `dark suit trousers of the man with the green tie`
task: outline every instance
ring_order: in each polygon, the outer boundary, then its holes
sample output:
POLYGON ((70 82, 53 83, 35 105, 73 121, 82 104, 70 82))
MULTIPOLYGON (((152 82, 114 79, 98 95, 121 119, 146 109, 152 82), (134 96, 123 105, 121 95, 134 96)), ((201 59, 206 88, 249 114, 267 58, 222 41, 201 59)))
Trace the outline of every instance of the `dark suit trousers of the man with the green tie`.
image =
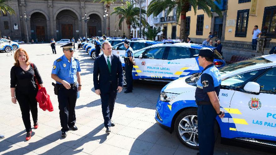
POLYGON ((104 116, 104 127, 111 127, 111 118, 114 110, 117 91, 101 93, 102 113, 104 116))

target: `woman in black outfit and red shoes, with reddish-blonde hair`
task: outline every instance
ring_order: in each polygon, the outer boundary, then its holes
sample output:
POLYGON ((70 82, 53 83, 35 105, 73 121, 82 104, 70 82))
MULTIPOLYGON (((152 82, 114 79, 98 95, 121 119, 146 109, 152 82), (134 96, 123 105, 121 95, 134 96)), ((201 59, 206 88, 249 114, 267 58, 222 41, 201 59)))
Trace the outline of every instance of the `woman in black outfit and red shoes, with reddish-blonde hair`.
POLYGON ((41 87, 43 87, 43 82, 36 66, 34 64, 34 67, 30 65, 29 56, 23 48, 15 51, 14 60, 15 63, 11 69, 12 102, 14 104, 16 104, 16 100, 19 102, 22 119, 27 132, 26 140, 28 141, 32 136, 30 111, 34 121, 34 128, 38 128, 37 101, 35 99, 38 88, 34 81, 34 75, 41 87))

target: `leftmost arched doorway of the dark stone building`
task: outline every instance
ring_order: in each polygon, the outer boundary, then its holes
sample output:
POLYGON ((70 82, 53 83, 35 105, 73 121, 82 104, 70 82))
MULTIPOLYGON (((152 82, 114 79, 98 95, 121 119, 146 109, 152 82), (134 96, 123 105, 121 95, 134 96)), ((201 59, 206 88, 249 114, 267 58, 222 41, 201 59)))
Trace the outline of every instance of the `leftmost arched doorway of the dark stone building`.
POLYGON ((40 42, 42 39, 45 40, 47 36, 47 19, 44 14, 35 12, 31 15, 31 37, 32 39, 38 39, 40 42))

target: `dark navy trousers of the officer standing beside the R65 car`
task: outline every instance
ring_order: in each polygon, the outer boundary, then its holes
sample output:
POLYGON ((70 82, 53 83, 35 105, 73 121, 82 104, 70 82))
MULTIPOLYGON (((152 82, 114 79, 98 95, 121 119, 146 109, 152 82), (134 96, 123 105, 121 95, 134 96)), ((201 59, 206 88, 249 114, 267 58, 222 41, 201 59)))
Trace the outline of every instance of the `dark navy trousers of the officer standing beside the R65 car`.
POLYGON ((210 105, 198 105, 199 154, 213 155, 215 146, 214 124, 217 113, 210 105))

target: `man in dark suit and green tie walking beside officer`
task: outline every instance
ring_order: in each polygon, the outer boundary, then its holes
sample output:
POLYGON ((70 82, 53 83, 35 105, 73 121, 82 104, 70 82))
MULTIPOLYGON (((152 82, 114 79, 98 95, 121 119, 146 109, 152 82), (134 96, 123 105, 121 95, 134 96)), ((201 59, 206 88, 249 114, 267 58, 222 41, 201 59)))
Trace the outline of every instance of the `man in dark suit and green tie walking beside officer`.
POLYGON ((107 41, 102 44, 103 55, 94 61, 93 81, 95 93, 101 96, 104 127, 106 133, 115 124, 111 121, 117 91, 123 89, 123 68, 119 56, 111 54, 112 46, 107 41))

